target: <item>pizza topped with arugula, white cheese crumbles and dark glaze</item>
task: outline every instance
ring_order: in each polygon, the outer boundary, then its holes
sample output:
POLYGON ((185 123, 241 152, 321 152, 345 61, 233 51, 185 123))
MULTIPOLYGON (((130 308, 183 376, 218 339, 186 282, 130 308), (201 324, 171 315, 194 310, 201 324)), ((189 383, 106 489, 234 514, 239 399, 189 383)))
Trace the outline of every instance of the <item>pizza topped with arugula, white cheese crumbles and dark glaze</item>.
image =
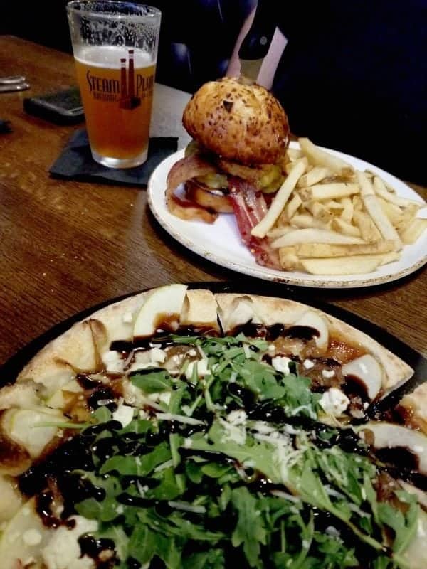
POLYGON ((1 378, 1 568, 425 569, 425 386, 370 413, 412 375, 290 299, 110 304, 1 378))

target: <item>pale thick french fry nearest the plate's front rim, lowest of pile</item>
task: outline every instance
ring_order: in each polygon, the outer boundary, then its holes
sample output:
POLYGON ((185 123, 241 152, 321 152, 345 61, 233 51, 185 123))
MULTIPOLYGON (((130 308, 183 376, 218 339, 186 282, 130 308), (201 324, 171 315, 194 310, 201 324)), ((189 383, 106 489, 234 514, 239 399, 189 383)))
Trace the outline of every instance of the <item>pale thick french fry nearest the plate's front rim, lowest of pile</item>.
POLYGON ((376 270, 381 260, 376 255, 359 255, 332 259, 301 259, 300 264, 311 275, 360 275, 376 270))

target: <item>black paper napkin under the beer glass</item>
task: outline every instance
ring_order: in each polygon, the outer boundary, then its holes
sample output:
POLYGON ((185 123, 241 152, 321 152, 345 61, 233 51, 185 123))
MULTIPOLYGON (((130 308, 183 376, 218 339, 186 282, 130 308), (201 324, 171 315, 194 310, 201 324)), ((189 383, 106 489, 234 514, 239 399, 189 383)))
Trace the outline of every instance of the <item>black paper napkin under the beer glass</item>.
POLYGON ((88 134, 85 129, 78 130, 70 138, 59 158, 49 172, 54 177, 79 181, 96 181, 108 184, 133 184, 147 186, 149 176, 157 164, 176 152, 178 139, 174 137, 150 138, 148 158, 135 168, 107 168, 98 164, 90 154, 88 134))

